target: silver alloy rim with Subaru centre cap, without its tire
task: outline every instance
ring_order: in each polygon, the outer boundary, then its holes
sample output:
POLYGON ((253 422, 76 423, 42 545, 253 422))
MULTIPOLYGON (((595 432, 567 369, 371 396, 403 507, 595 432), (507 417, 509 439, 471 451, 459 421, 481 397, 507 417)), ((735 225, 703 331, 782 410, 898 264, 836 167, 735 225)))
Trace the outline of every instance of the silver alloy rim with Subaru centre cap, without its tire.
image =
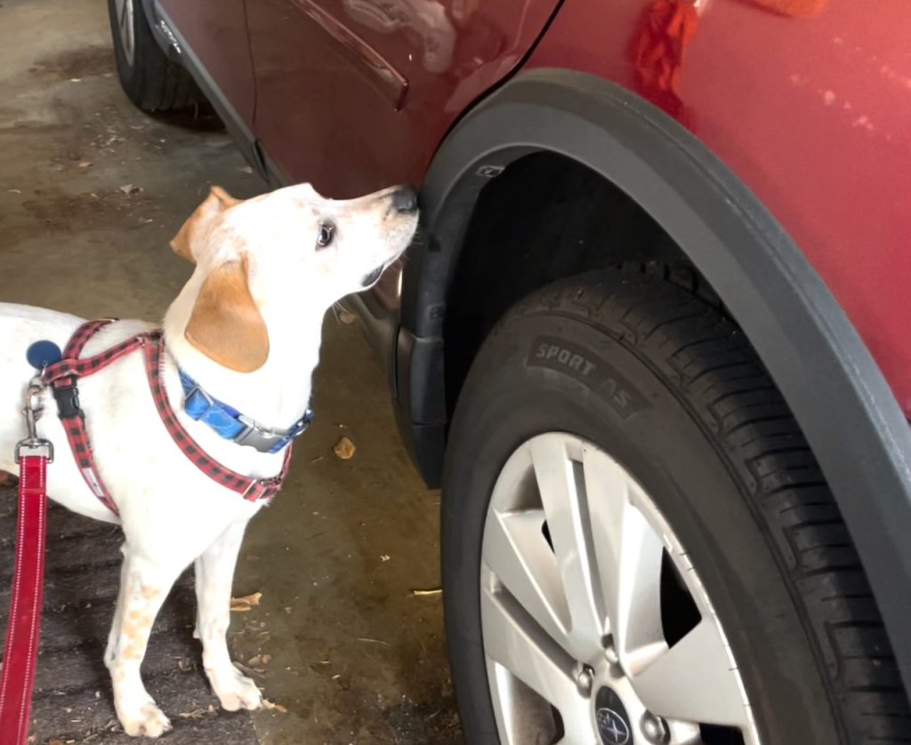
POLYGON ((503 743, 759 745, 686 550, 632 475, 576 435, 537 435, 497 478, 481 625, 503 743))

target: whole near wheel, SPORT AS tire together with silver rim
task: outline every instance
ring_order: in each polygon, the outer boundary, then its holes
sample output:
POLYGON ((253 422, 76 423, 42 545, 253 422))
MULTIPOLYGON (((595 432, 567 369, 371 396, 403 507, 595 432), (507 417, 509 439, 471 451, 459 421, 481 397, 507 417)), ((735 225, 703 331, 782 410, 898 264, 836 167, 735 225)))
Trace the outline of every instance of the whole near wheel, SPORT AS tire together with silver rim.
POLYGON ((510 311, 442 509, 472 745, 911 739, 813 454, 742 333, 670 281, 602 271, 510 311))

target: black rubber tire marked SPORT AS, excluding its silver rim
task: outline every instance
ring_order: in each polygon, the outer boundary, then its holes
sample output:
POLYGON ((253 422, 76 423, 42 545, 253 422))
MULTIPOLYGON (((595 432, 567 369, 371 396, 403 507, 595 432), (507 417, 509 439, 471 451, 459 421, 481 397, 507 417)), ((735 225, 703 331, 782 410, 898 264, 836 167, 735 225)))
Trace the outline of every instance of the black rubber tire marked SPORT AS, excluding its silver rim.
MULTIPOLYGON (((911 741, 906 691, 855 547, 749 342, 670 281, 606 270, 560 281, 509 311, 456 405, 442 571, 470 745, 500 741, 480 579, 491 495, 510 456, 542 433, 593 444, 650 496, 711 598, 763 745, 911 741), (548 358, 554 348, 560 352, 548 358)), ((591 536, 595 549, 605 541, 591 536)), ((561 717, 546 719, 550 731, 526 725, 516 742, 569 732, 561 717)), ((693 741, 749 740, 706 727, 693 741)))

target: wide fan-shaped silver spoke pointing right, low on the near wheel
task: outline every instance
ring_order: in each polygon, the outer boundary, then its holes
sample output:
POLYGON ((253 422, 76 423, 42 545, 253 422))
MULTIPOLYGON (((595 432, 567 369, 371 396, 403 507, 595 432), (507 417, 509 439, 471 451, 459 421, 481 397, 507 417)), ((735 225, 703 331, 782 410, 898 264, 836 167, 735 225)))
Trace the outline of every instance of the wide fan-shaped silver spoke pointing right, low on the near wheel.
POLYGON ((734 727, 745 727, 751 721, 713 617, 704 617, 630 682, 642 703, 661 717, 734 727))

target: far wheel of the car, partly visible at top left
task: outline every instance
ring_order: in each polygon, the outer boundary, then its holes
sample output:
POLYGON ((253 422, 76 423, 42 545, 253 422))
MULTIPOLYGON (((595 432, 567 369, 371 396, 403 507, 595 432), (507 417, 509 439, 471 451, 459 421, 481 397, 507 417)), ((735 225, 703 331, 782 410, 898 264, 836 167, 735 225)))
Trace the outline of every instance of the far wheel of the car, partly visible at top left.
POLYGON ((148 27, 142 0, 107 0, 120 86, 143 111, 166 112, 203 100, 189 72, 162 51, 148 27))

